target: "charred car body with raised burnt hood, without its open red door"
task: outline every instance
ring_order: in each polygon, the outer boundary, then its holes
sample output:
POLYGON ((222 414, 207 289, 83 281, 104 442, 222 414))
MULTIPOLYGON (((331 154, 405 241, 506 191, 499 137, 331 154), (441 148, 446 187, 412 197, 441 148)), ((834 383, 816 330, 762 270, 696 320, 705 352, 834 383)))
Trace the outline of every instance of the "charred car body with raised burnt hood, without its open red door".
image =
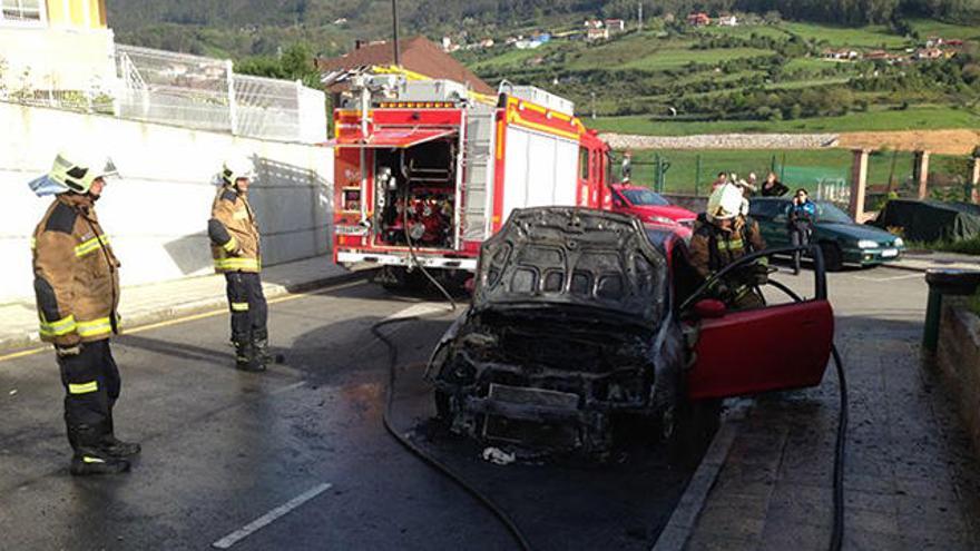
POLYGON ((516 210, 483 244, 472 305, 430 362, 440 416, 480 439, 608 450, 616 413, 654 417, 677 400, 667 278, 631 216, 516 210))

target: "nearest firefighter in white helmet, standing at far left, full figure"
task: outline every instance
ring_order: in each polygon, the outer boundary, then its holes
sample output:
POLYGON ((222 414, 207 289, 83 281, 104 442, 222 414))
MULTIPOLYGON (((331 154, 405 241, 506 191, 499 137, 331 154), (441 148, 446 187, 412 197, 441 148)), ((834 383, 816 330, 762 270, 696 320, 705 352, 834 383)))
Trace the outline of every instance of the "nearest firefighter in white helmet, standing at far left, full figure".
POLYGON ((65 424, 74 450, 74 475, 129 470, 139 444, 116 439, 112 409, 120 377, 109 347, 119 333, 119 262, 96 216, 105 178, 115 175, 107 158, 59 154, 51 171, 30 183, 53 195, 35 229, 35 293, 41 340, 55 345, 65 386, 65 424))

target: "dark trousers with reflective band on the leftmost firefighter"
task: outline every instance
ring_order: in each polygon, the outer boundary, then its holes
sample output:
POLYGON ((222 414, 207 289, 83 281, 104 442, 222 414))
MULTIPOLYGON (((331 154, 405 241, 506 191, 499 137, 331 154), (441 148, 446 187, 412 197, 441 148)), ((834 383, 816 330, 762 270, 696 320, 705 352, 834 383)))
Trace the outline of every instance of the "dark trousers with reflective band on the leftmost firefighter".
POLYGON ((77 353, 59 350, 58 367, 65 386, 68 443, 76 453, 98 449, 114 437, 112 407, 121 388, 109 340, 81 344, 77 353))

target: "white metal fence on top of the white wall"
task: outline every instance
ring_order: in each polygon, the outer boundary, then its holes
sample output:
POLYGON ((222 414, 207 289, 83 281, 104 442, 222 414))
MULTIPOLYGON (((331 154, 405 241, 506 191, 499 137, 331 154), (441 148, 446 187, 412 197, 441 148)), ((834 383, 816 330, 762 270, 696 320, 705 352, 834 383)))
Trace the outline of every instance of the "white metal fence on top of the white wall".
POLYGON ((326 96, 302 82, 237 75, 231 60, 116 45, 115 82, 33 90, 4 78, 0 101, 101 112, 259 139, 326 139, 326 96))

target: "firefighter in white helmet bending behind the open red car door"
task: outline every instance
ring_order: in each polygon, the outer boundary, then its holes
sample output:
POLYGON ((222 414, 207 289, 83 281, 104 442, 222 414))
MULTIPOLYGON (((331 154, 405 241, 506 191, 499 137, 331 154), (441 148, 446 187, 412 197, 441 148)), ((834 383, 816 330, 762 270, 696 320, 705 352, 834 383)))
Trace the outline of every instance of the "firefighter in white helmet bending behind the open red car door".
MULTIPOLYGON (((688 260, 702 279, 743 256, 766 248, 758 224, 743 213, 744 201, 738 186, 725 184, 712 193, 707 210, 698 216, 688 246, 688 260)), ((758 286, 768 281, 768 273, 767 260, 761 258, 717 282, 715 296, 738 309, 764 306, 758 286)))

